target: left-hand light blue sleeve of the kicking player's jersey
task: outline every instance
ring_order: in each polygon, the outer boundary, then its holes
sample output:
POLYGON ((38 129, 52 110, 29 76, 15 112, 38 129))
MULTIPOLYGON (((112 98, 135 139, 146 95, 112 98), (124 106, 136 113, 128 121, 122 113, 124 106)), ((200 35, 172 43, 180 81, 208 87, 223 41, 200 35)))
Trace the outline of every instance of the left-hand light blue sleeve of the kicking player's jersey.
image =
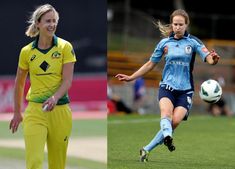
POLYGON ((164 53, 164 42, 165 39, 161 40, 156 48, 154 49, 154 52, 152 53, 151 57, 150 57, 150 61, 154 62, 154 63, 158 63, 160 62, 162 55, 164 53))

